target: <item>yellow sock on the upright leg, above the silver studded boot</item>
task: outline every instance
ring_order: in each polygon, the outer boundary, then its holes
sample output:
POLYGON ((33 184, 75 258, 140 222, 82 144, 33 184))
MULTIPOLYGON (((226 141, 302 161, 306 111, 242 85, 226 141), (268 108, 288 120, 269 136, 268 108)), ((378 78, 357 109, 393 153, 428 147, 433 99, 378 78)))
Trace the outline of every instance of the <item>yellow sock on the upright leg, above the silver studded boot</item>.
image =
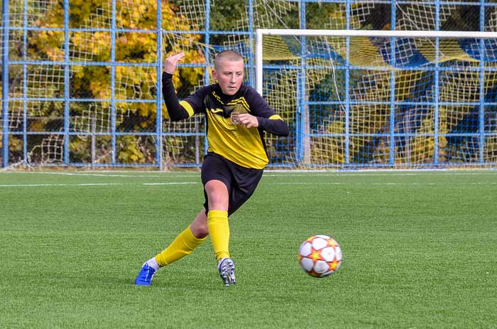
POLYGON ((229 257, 229 224, 228 212, 223 210, 210 210, 207 213, 207 227, 211 236, 212 247, 216 259, 229 257))

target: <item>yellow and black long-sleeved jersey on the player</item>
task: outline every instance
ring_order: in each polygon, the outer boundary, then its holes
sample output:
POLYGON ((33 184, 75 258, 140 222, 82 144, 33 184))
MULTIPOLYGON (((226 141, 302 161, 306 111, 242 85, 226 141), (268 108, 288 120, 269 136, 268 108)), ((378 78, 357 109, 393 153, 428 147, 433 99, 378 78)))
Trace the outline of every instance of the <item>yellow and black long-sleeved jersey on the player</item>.
POLYGON ((203 113, 207 122, 209 152, 246 168, 262 169, 268 164, 263 131, 288 136, 288 125, 252 87, 242 84, 233 96, 224 95, 219 85, 208 85, 178 101, 172 75, 163 73, 163 97, 169 117, 179 121, 203 113), (258 128, 231 122, 231 112, 249 113, 258 128))

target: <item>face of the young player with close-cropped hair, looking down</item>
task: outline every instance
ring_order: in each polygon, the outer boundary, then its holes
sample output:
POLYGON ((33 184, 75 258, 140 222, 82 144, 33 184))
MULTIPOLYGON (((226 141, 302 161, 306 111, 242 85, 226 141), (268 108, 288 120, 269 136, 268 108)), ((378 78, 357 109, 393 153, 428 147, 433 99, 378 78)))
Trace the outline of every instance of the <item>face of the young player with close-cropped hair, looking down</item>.
POLYGON ((244 80, 244 61, 219 60, 212 70, 212 77, 217 80, 224 95, 235 95, 244 80))

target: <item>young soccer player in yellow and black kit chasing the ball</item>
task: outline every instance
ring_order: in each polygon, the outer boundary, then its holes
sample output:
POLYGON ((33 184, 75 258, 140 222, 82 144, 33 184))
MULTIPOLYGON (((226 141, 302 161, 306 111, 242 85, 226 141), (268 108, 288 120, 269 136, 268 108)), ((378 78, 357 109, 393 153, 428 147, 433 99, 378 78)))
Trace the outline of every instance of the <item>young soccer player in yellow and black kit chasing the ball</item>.
POLYGON ((214 58, 214 85, 178 101, 173 74, 184 53, 170 55, 164 64, 163 96, 173 121, 202 113, 207 122, 207 154, 202 164, 204 207, 171 244, 143 264, 135 284, 150 285, 155 271, 190 254, 208 235, 217 269, 225 286, 235 284, 235 264, 229 254, 228 217, 256 189, 268 164, 263 131, 288 136, 288 125, 253 88, 245 85, 244 58, 225 50, 214 58))

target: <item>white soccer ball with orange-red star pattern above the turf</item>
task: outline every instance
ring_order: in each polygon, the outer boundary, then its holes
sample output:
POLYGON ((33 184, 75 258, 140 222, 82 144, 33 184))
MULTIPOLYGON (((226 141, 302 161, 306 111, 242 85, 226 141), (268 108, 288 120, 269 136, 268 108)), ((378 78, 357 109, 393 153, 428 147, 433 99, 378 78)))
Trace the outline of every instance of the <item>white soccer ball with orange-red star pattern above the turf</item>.
POLYGON ((310 276, 324 278, 334 274, 342 264, 342 249, 327 235, 313 235, 300 244, 299 264, 310 276))

